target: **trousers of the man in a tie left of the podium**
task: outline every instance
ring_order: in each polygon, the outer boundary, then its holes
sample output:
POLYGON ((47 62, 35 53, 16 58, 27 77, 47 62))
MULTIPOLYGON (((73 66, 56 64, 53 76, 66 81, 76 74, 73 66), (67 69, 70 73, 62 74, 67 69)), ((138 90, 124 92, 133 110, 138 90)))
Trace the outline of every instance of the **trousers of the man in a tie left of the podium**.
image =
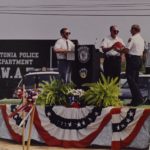
POLYGON ((73 61, 71 60, 58 60, 59 74, 65 83, 71 82, 72 64, 73 61))

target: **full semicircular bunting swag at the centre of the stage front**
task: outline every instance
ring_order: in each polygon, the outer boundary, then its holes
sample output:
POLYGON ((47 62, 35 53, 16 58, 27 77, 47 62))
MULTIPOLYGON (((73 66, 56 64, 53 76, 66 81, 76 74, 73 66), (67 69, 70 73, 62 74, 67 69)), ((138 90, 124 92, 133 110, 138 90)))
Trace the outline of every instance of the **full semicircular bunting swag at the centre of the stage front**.
POLYGON ((38 107, 34 125, 47 145, 87 147, 110 119, 111 108, 38 107))

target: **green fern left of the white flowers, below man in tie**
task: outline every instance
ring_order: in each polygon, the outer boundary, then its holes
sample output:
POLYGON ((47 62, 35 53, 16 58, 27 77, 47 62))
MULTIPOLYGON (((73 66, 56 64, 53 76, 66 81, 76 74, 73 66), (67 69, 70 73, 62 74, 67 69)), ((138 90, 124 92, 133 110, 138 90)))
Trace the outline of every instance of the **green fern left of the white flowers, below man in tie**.
POLYGON ((66 105, 67 93, 74 86, 73 83, 63 83, 61 80, 53 80, 51 83, 44 81, 40 84, 42 90, 37 98, 37 104, 66 105))

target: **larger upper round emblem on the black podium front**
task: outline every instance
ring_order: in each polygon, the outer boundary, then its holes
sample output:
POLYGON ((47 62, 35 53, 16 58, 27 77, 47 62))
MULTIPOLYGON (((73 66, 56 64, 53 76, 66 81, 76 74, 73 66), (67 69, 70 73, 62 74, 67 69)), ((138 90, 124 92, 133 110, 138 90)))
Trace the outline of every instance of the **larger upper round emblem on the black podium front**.
POLYGON ((90 59, 89 47, 81 46, 78 48, 78 60, 81 63, 87 63, 90 59))

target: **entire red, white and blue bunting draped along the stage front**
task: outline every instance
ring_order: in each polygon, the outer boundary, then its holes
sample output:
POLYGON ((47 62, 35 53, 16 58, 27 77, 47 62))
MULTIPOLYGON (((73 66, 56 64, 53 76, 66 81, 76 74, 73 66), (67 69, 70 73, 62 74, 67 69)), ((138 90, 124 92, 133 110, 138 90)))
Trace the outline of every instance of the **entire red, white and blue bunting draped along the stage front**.
MULTIPOLYGON (((15 107, 15 105, 0 106, 9 133, 15 141, 21 142, 22 127, 19 126, 22 121, 21 114, 8 117, 15 107)), ((49 146, 88 147, 111 122, 112 150, 119 150, 132 143, 149 116, 150 109, 142 108, 37 106, 34 126, 39 136, 49 146)))

